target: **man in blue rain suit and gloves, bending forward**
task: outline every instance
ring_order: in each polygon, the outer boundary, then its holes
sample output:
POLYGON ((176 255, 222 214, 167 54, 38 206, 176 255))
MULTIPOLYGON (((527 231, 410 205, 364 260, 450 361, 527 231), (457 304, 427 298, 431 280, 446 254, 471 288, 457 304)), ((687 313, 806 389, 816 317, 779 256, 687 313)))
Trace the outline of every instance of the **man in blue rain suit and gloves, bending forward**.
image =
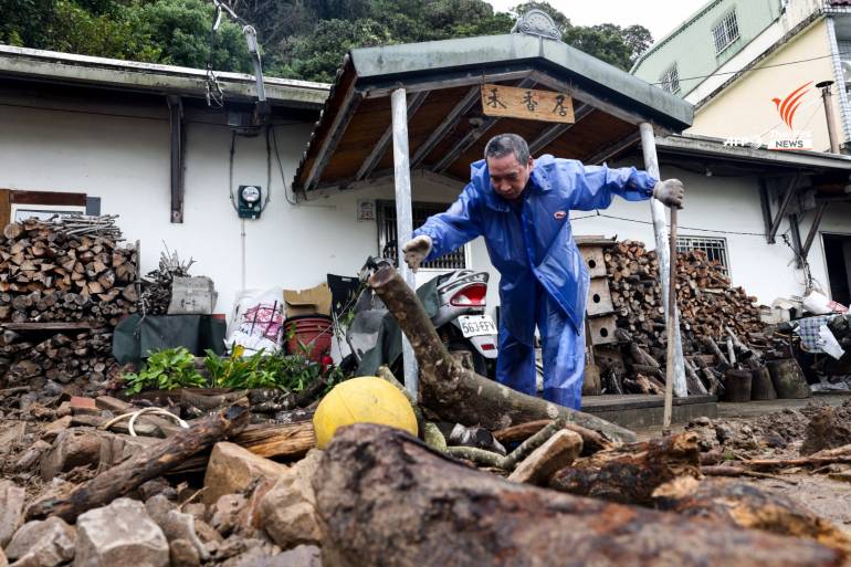
POLYGON ((485 159, 446 212, 431 217, 405 248, 412 270, 476 237, 484 237, 500 271, 500 356, 496 379, 535 393, 535 326, 544 355, 544 398, 579 409, 585 370, 588 271, 570 230, 571 210, 605 209, 618 195, 655 197, 682 206, 683 185, 659 181, 635 168, 586 167, 579 161, 533 159, 515 134, 492 138, 485 159))

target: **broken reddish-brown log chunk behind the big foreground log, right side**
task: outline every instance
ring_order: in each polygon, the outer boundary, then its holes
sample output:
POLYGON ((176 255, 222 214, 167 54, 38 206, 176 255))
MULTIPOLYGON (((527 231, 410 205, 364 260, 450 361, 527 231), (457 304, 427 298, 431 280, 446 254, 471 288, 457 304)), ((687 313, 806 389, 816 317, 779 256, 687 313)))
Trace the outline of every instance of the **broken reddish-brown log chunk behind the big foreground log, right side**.
POLYGON ((653 504, 653 491, 679 476, 701 475, 697 435, 681 433, 609 449, 578 459, 549 486, 622 504, 653 504))

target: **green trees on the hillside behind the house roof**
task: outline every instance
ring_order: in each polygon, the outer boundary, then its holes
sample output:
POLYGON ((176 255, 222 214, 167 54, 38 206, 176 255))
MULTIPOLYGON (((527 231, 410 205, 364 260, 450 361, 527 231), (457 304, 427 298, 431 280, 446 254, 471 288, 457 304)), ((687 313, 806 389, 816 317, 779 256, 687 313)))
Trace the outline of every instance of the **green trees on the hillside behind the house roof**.
MULTIPOLYGON (((548 12, 567 43, 628 70, 650 45, 641 25, 572 25, 548 2, 512 13, 484 0, 253 0, 230 2, 254 24, 270 76, 330 82, 347 51, 508 33, 516 14, 548 12)), ((211 48, 209 0, 0 0, 0 42, 117 59, 251 72, 242 27, 227 15, 211 48)))

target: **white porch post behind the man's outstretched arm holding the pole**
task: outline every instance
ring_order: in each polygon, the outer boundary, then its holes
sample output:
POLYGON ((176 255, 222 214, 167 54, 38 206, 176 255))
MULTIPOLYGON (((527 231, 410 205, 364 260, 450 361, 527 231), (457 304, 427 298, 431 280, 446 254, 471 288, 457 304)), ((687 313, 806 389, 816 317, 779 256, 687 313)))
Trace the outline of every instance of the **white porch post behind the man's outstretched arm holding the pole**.
MULTIPOLYGON (((656 156, 656 138, 653 125, 641 123, 641 149, 644 154, 644 169, 648 174, 661 179, 659 172, 659 157, 656 156)), ((665 307, 665 321, 671 308, 669 301, 669 282, 671 276, 671 254, 668 239, 668 221, 665 220, 665 207, 656 199, 650 199, 650 211, 653 216, 653 232, 656 240, 656 258, 659 259, 659 275, 662 285, 662 304, 665 307)), ((675 307, 675 306, 674 306, 675 307)), ((683 342, 680 336, 680 318, 675 314, 676 326, 674 328, 674 396, 685 398, 689 390, 685 387, 685 364, 683 363, 683 342)))

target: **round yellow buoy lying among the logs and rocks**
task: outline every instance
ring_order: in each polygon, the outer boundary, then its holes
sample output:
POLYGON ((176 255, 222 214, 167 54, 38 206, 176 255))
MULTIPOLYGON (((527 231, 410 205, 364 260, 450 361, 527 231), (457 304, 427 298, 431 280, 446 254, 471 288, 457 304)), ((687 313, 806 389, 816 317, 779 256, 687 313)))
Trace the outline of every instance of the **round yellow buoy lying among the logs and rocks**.
POLYGON ((405 395, 375 376, 353 378, 335 386, 313 416, 316 447, 325 449, 337 428, 378 423, 417 434, 417 417, 405 395))

